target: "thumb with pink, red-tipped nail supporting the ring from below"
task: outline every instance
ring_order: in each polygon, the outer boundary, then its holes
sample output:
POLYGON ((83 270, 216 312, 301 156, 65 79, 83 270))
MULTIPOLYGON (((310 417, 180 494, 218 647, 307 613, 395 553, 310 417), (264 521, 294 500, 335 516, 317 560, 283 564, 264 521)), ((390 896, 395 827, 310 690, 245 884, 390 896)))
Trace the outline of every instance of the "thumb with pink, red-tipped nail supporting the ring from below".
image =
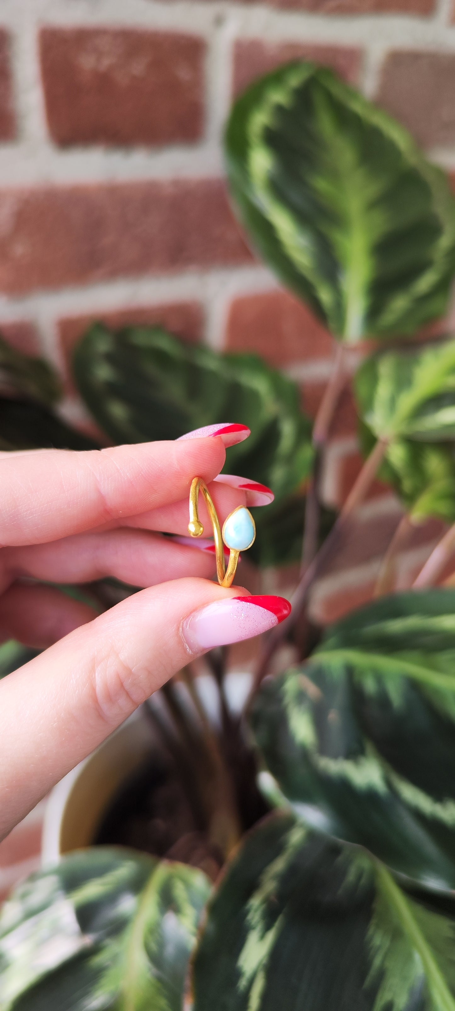
POLYGON ((188 661, 287 617, 205 579, 142 590, 0 681, 0 838, 188 661))

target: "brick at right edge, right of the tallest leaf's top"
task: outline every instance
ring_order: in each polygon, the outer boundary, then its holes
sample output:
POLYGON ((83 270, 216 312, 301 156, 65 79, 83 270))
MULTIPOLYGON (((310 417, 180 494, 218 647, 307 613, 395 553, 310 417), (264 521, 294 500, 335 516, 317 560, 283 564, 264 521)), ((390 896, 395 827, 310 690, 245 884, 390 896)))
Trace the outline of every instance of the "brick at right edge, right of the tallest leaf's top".
POLYGON ((424 147, 455 142, 455 54, 389 53, 377 101, 424 147))

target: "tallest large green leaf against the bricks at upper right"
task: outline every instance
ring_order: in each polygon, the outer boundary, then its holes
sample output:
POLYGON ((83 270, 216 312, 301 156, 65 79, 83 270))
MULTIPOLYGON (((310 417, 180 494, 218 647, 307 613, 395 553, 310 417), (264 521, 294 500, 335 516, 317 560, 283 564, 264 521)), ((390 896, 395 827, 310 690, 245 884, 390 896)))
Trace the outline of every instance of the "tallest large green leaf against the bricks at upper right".
POLYGON ((346 341, 442 315, 455 203, 402 126, 298 62, 236 102, 225 139, 240 215, 278 276, 346 341))

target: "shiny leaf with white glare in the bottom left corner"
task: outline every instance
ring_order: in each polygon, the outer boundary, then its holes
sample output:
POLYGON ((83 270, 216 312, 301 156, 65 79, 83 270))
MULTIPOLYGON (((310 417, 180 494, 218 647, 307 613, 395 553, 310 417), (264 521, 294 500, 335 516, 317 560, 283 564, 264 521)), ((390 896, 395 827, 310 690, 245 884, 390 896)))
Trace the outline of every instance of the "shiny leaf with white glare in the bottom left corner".
POLYGON ((210 883, 128 850, 65 857, 0 916, 2 1011, 181 1011, 210 883))

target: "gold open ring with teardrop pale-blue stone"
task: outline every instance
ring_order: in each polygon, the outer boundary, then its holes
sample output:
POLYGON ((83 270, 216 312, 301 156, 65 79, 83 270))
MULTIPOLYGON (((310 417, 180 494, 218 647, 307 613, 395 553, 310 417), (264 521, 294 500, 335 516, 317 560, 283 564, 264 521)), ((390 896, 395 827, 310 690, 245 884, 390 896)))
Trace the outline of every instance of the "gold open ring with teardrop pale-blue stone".
POLYGON ((190 522, 188 524, 188 533, 191 537, 201 537, 204 532, 204 528, 199 520, 199 491, 202 491, 204 496, 211 526, 213 528, 213 540, 216 555, 216 575, 218 582, 220 586, 231 586, 234 581, 234 576, 236 575, 236 569, 241 551, 246 551, 247 548, 251 548, 256 537, 255 521, 246 505, 239 505, 238 509, 234 510, 233 513, 230 513, 226 520, 224 520, 221 532, 216 510, 207 485, 201 477, 194 477, 191 482, 189 498, 190 522), (230 549, 228 568, 224 562, 224 544, 230 549))

